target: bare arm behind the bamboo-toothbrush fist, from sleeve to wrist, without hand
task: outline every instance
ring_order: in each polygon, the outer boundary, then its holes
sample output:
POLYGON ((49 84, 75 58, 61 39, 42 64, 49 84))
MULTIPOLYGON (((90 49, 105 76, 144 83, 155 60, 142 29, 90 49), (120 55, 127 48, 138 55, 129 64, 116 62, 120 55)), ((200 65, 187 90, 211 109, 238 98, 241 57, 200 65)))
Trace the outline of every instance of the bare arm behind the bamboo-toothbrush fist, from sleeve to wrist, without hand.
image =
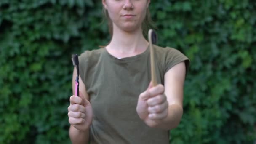
POLYGON ((183 114, 185 75, 186 67, 184 62, 176 64, 165 73, 164 93, 168 101, 168 116, 157 127, 169 130, 179 125, 183 114))

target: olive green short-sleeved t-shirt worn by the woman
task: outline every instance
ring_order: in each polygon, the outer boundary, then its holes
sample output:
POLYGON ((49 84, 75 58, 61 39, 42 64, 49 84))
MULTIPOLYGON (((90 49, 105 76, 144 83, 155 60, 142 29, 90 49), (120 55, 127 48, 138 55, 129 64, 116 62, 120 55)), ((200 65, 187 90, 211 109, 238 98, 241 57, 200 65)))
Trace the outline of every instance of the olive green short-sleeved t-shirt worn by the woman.
MULTIPOLYGON (((154 45, 157 82, 174 65, 189 59, 174 48, 154 45)), ((143 53, 115 58, 106 48, 79 56, 80 77, 93 108, 90 144, 168 144, 168 131, 150 128, 136 112, 140 93, 151 80, 149 48, 143 53)))

